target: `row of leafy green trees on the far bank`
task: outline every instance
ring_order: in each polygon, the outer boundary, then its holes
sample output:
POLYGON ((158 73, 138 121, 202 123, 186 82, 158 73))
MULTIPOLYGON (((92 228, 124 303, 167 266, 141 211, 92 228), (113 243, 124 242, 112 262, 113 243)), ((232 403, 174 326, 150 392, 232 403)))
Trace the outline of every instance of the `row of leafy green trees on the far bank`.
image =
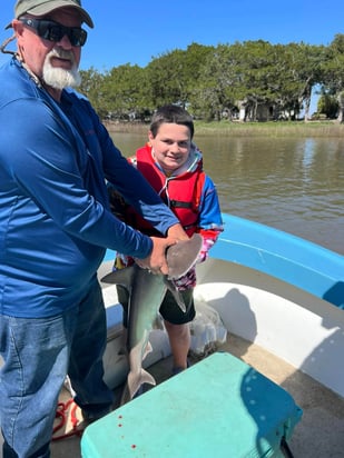
POLYGON ((328 46, 191 43, 163 53, 146 67, 122 64, 81 70, 80 91, 102 119, 148 120, 165 103, 186 108, 195 119, 309 120, 311 94, 320 93, 317 116, 343 121, 344 34, 328 46))

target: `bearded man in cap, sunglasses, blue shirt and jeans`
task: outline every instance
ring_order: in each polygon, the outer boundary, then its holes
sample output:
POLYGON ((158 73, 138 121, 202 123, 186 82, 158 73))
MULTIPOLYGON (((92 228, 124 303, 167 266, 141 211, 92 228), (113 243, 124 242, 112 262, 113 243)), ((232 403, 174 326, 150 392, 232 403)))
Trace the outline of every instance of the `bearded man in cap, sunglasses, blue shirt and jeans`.
POLYGON ((107 414, 106 248, 167 273, 181 226, 114 146, 79 83, 94 22, 79 0, 18 0, 17 52, 0 69, 0 419, 3 457, 49 457, 66 374, 86 419, 107 414), (109 210, 106 180, 167 238, 109 210), (135 183, 135 186, 132 185, 135 183))

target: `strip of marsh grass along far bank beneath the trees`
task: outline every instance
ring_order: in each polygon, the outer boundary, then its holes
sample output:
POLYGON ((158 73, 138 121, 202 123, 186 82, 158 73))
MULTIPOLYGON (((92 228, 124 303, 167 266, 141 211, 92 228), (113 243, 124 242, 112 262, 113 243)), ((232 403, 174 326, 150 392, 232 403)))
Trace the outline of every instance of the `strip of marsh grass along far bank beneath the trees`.
MULTIPOLYGON (((109 132, 146 135, 149 123, 104 121, 109 132)), ((235 137, 343 137, 344 125, 335 121, 281 121, 281 122, 203 122, 195 121, 199 136, 235 137)))

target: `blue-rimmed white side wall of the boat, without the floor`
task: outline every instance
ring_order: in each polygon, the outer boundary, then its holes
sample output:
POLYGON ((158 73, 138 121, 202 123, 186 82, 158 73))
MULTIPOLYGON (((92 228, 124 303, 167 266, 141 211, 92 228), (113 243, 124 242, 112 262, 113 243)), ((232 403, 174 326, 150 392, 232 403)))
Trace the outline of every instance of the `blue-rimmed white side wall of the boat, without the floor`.
MULTIPOLYGON (((212 306, 229 333, 256 344, 344 397, 344 257, 298 237, 223 215, 225 230, 197 266, 195 300, 212 306)), ((112 268, 107 252, 99 278, 112 268)), ((124 381, 110 351, 121 329, 116 286, 102 283, 108 311, 106 377, 124 381), (115 303, 115 306, 114 306, 115 303), (107 360, 109 358, 109 360, 107 360), (118 370, 114 371, 114 368, 118 370)), ((146 367, 169 355, 165 332, 154 331, 146 367)), ((125 359, 125 358, 124 358, 125 359)), ((126 362, 124 362, 126 365, 126 362)))

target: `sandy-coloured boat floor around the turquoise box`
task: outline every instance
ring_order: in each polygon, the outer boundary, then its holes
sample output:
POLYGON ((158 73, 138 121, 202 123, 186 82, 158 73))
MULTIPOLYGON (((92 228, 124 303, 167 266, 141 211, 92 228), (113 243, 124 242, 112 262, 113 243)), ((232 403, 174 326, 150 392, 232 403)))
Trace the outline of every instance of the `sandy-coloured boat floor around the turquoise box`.
MULTIPOLYGON (((240 358, 261 374, 287 390, 303 409, 303 418, 289 439, 295 458, 344 457, 344 398, 324 388, 291 365, 239 337, 230 335, 218 348, 240 358)), ((191 362, 197 359, 191 357, 191 362)), ((171 357, 149 367, 157 382, 170 377, 171 357)), ((121 387, 115 390, 119 399, 121 387)), ((63 389, 61 401, 70 397, 63 389)), ((80 438, 72 436, 52 441, 51 458, 80 458, 80 438)), ((1 450, 0 450, 1 458, 1 450)))

